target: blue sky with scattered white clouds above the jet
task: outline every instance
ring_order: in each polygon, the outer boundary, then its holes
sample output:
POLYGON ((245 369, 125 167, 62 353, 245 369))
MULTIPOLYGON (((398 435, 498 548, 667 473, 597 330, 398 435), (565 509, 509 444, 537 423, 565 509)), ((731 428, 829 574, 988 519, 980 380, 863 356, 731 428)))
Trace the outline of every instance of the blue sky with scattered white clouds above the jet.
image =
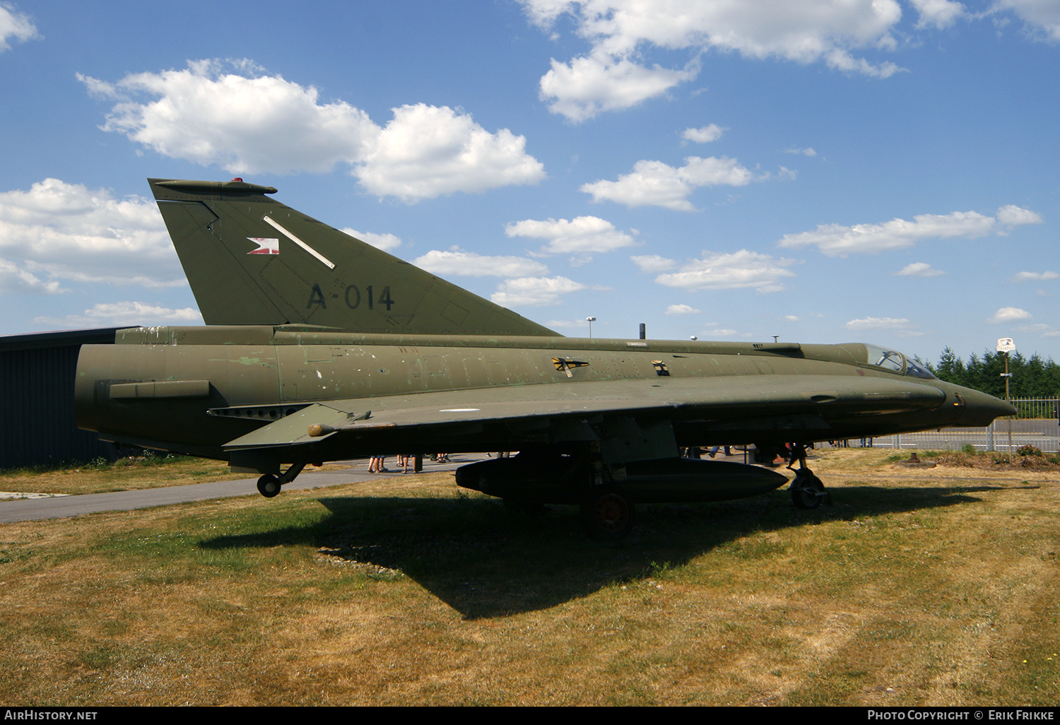
POLYGON ((1060 0, 0 1, 0 334, 201 318, 146 177, 566 335, 1060 359, 1060 0))

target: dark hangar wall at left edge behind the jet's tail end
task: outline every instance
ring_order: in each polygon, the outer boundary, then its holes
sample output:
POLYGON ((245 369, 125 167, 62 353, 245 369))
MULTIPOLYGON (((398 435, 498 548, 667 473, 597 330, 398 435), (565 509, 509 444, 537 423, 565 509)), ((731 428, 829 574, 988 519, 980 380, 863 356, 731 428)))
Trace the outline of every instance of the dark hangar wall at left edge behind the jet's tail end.
POLYGON ((113 343, 116 330, 0 337, 0 468, 113 458, 74 425, 73 384, 81 346, 113 343))

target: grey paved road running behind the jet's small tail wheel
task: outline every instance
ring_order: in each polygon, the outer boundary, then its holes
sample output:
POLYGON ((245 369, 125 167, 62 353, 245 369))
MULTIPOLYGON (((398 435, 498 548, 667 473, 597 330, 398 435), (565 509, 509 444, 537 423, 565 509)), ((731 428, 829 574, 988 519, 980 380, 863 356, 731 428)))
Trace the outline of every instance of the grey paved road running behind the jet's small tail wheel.
MULTIPOLYGON (((484 459, 484 454, 453 456, 450 463, 432 463, 429 459, 423 461, 425 473, 436 471, 453 471, 464 463, 484 459)), ((393 459, 389 459, 392 464, 393 459)), ((317 489, 328 485, 341 485, 359 481, 375 481, 379 478, 398 477, 400 472, 370 474, 364 461, 351 461, 357 468, 342 471, 316 471, 299 476, 292 483, 283 487, 293 489, 317 489)), ((0 501, 0 523, 31 521, 43 518, 63 518, 80 516, 100 511, 131 511, 146 509, 153 506, 184 503, 187 501, 204 501, 211 498, 229 498, 231 496, 260 496, 258 478, 246 478, 234 481, 214 481, 212 483, 193 483, 191 485, 174 485, 164 489, 143 489, 140 491, 116 491, 105 494, 85 494, 81 496, 60 496, 58 498, 30 498, 0 501)))

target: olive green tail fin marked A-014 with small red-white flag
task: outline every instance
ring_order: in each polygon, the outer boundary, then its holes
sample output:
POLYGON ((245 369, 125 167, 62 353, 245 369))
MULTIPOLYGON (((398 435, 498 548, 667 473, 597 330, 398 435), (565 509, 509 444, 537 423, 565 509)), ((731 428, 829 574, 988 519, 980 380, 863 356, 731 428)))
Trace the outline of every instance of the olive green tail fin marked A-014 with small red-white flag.
POLYGON ((560 337, 269 198, 272 187, 148 181, 207 324, 560 337))

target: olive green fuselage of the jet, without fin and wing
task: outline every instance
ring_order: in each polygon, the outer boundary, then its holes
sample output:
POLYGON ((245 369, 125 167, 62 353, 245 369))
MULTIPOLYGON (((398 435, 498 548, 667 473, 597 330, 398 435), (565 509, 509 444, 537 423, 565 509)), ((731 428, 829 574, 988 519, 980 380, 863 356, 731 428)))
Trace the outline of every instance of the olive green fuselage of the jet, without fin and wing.
MULTIPOLYGON (((120 331, 117 342, 82 349, 77 425, 104 439, 224 460, 229 441, 313 403, 366 399, 370 405, 438 391, 457 399, 459 391, 476 391, 478 400, 496 391, 502 404, 536 391, 555 395, 551 386, 566 386, 559 392, 578 400, 614 396, 619 385, 638 397, 672 401, 667 418, 678 446, 781 445, 987 425, 1010 410, 984 393, 913 376, 913 364, 888 370, 859 359, 865 346, 856 343, 387 336, 264 325, 134 328, 120 331), (694 403, 708 387, 714 391, 709 410, 694 403)), ((554 425, 504 421, 440 425, 411 439, 398 428, 376 431, 363 449, 355 438, 341 445, 322 440, 285 449, 282 460, 517 450, 564 435, 569 438, 554 425)))

